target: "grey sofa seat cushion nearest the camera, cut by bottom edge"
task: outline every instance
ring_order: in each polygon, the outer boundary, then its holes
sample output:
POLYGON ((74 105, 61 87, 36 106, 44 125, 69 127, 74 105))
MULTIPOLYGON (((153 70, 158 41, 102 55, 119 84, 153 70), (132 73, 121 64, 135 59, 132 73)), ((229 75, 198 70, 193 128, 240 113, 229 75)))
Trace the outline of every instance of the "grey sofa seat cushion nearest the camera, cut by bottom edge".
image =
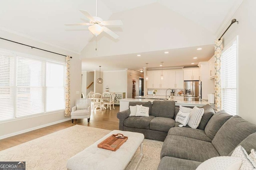
POLYGON ((195 170, 202 162, 164 156, 157 170, 195 170))

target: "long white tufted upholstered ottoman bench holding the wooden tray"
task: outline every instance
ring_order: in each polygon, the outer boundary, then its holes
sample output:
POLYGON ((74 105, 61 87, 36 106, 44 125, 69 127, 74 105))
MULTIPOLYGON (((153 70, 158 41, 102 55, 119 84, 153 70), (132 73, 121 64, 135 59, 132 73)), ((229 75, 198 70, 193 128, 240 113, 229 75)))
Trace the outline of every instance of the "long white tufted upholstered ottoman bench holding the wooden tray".
POLYGON ((142 133, 114 130, 102 139, 72 156, 67 162, 70 170, 123 170, 136 169, 143 158, 142 133), (116 151, 98 148, 98 144, 112 134, 121 133, 127 136, 127 141, 116 151), (140 154, 135 153, 140 147, 140 154))

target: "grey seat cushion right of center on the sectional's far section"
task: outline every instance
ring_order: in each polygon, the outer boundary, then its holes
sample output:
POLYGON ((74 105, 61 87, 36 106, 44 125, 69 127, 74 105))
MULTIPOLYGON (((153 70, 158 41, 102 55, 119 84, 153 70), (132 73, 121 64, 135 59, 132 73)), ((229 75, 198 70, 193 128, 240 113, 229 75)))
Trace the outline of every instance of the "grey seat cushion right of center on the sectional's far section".
POLYGON ((166 117, 154 117, 150 122, 149 129, 155 131, 168 132, 171 127, 174 127, 174 119, 166 117))

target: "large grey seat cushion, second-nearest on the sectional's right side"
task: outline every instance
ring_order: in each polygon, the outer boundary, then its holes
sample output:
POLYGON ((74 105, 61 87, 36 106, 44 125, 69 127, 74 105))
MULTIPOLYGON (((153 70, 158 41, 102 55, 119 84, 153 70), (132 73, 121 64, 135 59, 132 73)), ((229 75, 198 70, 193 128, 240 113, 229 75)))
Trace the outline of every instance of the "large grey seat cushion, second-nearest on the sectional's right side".
POLYGON ((164 156, 204 162, 209 158, 220 156, 220 154, 210 142, 168 135, 164 140, 160 157, 164 156))

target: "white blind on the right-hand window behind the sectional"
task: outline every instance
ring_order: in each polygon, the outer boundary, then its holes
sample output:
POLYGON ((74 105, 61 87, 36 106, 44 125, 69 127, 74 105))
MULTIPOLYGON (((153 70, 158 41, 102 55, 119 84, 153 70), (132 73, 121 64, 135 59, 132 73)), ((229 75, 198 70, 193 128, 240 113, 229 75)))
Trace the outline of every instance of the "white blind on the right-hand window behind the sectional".
POLYGON ((236 115, 236 42, 234 41, 221 56, 221 82, 222 82, 222 109, 227 113, 236 115))

